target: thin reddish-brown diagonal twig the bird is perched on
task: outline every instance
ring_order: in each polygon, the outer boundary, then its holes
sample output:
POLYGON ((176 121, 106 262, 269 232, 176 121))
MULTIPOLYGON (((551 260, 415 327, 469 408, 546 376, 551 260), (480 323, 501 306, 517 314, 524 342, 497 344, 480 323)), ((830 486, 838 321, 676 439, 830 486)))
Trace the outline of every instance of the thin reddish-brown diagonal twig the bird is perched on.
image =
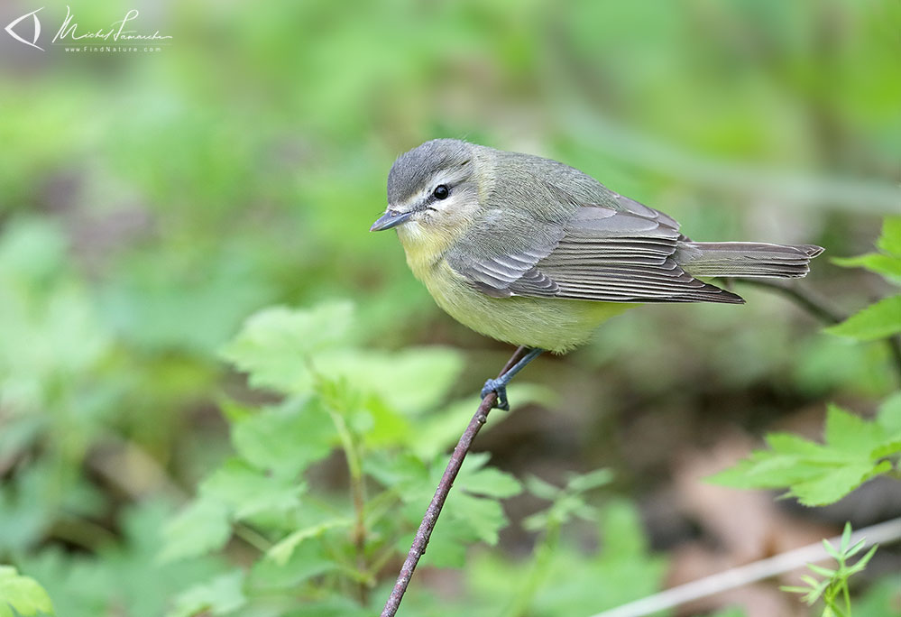
MULTIPOLYGON (((507 364, 503 367, 503 370, 501 370, 501 373, 498 376, 500 377, 504 373, 507 373, 507 371, 510 370, 510 367, 519 362, 526 353, 526 347, 519 347, 519 349, 510 356, 510 360, 507 361, 507 364)), ((419 529, 413 539, 412 546, 409 548, 407 558, 404 560, 403 566, 400 567, 400 575, 398 576, 397 583, 394 584, 394 589, 391 590, 388 602, 385 603, 385 608, 382 610, 382 617, 393 617, 398 611, 400 601, 407 592, 409 579, 413 576, 413 570, 416 569, 416 565, 419 563, 419 557, 422 557, 426 552, 428 539, 432 535, 432 530, 435 529, 435 523, 438 520, 438 515, 441 514, 441 509, 445 505, 447 493, 450 493, 450 488, 454 484, 456 474, 459 473, 460 467, 463 465, 466 453, 469 452, 469 448, 473 445, 473 439, 478 435, 479 429, 482 428, 485 421, 487 421, 488 413, 492 410, 494 403, 496 402, 497 394, 489 392, 483 398, 482 403, 479 405, 479 409, 475 410, 475 415, 473 416, 473 419, 469 420, 469 425, 466 427, 466 430, 464 430, 463 435, 460 436, 460 441, 457 442, 454 452, 451 454, 450 461, 447 463, 445 473, 441 476, 441 481, 438 483, 435 496, 432 497, 432 501, 428 504, 426 515, 419 524, 419 529)))

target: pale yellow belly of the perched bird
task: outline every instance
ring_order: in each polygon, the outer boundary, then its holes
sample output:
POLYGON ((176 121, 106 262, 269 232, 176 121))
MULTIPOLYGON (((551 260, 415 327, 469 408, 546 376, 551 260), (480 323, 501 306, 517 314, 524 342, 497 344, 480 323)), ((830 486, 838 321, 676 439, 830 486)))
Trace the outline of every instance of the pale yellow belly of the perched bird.
POLYGON ((638 306, 557 298, 491 298, 474 290, 444 260, 413 271, 438 306, 464 326, 512 345, 540 347, 556 354, 584 343, 606 319, 638 306))

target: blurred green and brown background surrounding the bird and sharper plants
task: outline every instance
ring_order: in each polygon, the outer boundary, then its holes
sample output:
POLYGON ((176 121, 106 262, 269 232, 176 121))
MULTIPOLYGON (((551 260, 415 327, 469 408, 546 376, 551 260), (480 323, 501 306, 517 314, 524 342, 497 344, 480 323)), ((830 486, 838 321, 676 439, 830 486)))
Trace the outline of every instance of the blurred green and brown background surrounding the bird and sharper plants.
MULTIPOLYGON (((837 310, 886 293, 829 257, 901 213, 895 0, 70 6, 85 29, 138 9, 172 39, 41 52, 0 32, 0 561, 56 597, 97 560, 150 559, 123 512, 159 526, 164 487, 190 493, 227 455, 217 401, 240 376, 217 352, 254 310, 352 299, 365 345, 463 350, 459 393, 496 373, 510 349, 441 313, 396 239, 368 232, 392 161, 427 139, 565 161, 695 240, 822 244, 804 284, 837 310)), ((0 21, 35 8, 7 0, 0 21)), ((46 3, 41 41, 65 14, 46 3)), ((492 419, 476 449, 551 480, 610 467, 671 582, 896 514, 897 483, 799 511, 700 482, 764 431, 817 436, 826 401, 866 414, 897 387, 884 345, 735 290, 747 305, 636 309, 539 359, 521 379, 556 401, 492 419)), ((510 556, 530 507, 507 504, 510 556)), ((775 585, 743 594, 804 614, 775 585)))

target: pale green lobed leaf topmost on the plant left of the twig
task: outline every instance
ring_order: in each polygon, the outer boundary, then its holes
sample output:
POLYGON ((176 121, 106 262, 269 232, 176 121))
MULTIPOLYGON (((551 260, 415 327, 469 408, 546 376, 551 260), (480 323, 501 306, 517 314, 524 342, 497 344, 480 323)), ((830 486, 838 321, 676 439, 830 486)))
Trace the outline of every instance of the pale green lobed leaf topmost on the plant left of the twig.
POLYGON ((254 387, 307 393, 310 356, 343 342, 352 316, 349 302, 329 302, 307 310, 263 309, 247 319, 222 355, 249 373, 254 387))

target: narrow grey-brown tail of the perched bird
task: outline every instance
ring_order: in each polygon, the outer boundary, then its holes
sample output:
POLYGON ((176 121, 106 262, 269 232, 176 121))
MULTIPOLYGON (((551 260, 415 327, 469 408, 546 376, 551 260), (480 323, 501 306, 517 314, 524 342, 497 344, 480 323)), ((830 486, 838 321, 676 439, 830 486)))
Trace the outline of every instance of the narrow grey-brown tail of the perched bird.
POLYGON ((810 260, 823 253, 814 244, 762 242, 679 243, 676 262, 692 276, 798 278, 810 272, 810 260))

